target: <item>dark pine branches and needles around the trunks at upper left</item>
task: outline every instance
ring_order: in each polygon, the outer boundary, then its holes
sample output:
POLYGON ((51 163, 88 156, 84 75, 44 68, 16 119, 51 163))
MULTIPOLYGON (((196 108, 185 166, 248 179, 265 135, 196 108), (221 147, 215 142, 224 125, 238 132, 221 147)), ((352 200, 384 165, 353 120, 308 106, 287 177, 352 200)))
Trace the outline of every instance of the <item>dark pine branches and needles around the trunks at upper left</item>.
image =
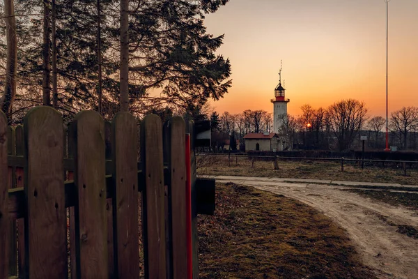
MULTIPOLYGON (((44 7, 34 0, 15 1, 26 9, 20 14, 40 15, 24 16, 17 22, 18 40, 26 40, 24 44, 18 43, 21 47, 18 50, 17 115, 42 100, 39 92, 42 68, 46 64, 42 67, 45 61, 42 45, 45 44, 42 44, 42 37, 38 38, 42 32, 44 7)), ((228 59, 215 54, 223 36, 206 33, 203 24, 206 13, 215 13, 226 2, 130 1, 128 91, 131 112, 143 114, 155 106, 196 112, 209 98, 218 100, 228 92, 231 65, 228 59)), ((118 111, 121 15, 115 7, 119 3, 104 0, 99 7, 97 0, 54 1, 57 79, 54 105, 65 117, 72 117, 79 110, 98 110, 99 103, 102 103, 105 118, 109 119, 118 111), (101 90, 98 89, 100 80, 101 90), (100 96, 102 102, 99 102, 100 96)), ((0 33, 0 42, 2 36, 0 33)), ((0 56, 0 59, 5 58, 0 56)))

